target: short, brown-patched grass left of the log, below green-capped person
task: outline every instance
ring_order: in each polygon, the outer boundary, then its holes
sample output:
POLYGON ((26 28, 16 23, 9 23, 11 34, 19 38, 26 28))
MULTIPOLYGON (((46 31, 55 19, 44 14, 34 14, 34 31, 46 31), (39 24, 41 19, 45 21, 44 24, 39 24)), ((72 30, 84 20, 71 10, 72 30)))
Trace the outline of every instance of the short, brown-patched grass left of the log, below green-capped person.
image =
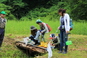
MULTIPOLYGON (((0 58, 29 58, 15 46, 15 39, 6 36, 0 50, 0 58)), ((32 57, 30 57, 32 58, 32 57)))

